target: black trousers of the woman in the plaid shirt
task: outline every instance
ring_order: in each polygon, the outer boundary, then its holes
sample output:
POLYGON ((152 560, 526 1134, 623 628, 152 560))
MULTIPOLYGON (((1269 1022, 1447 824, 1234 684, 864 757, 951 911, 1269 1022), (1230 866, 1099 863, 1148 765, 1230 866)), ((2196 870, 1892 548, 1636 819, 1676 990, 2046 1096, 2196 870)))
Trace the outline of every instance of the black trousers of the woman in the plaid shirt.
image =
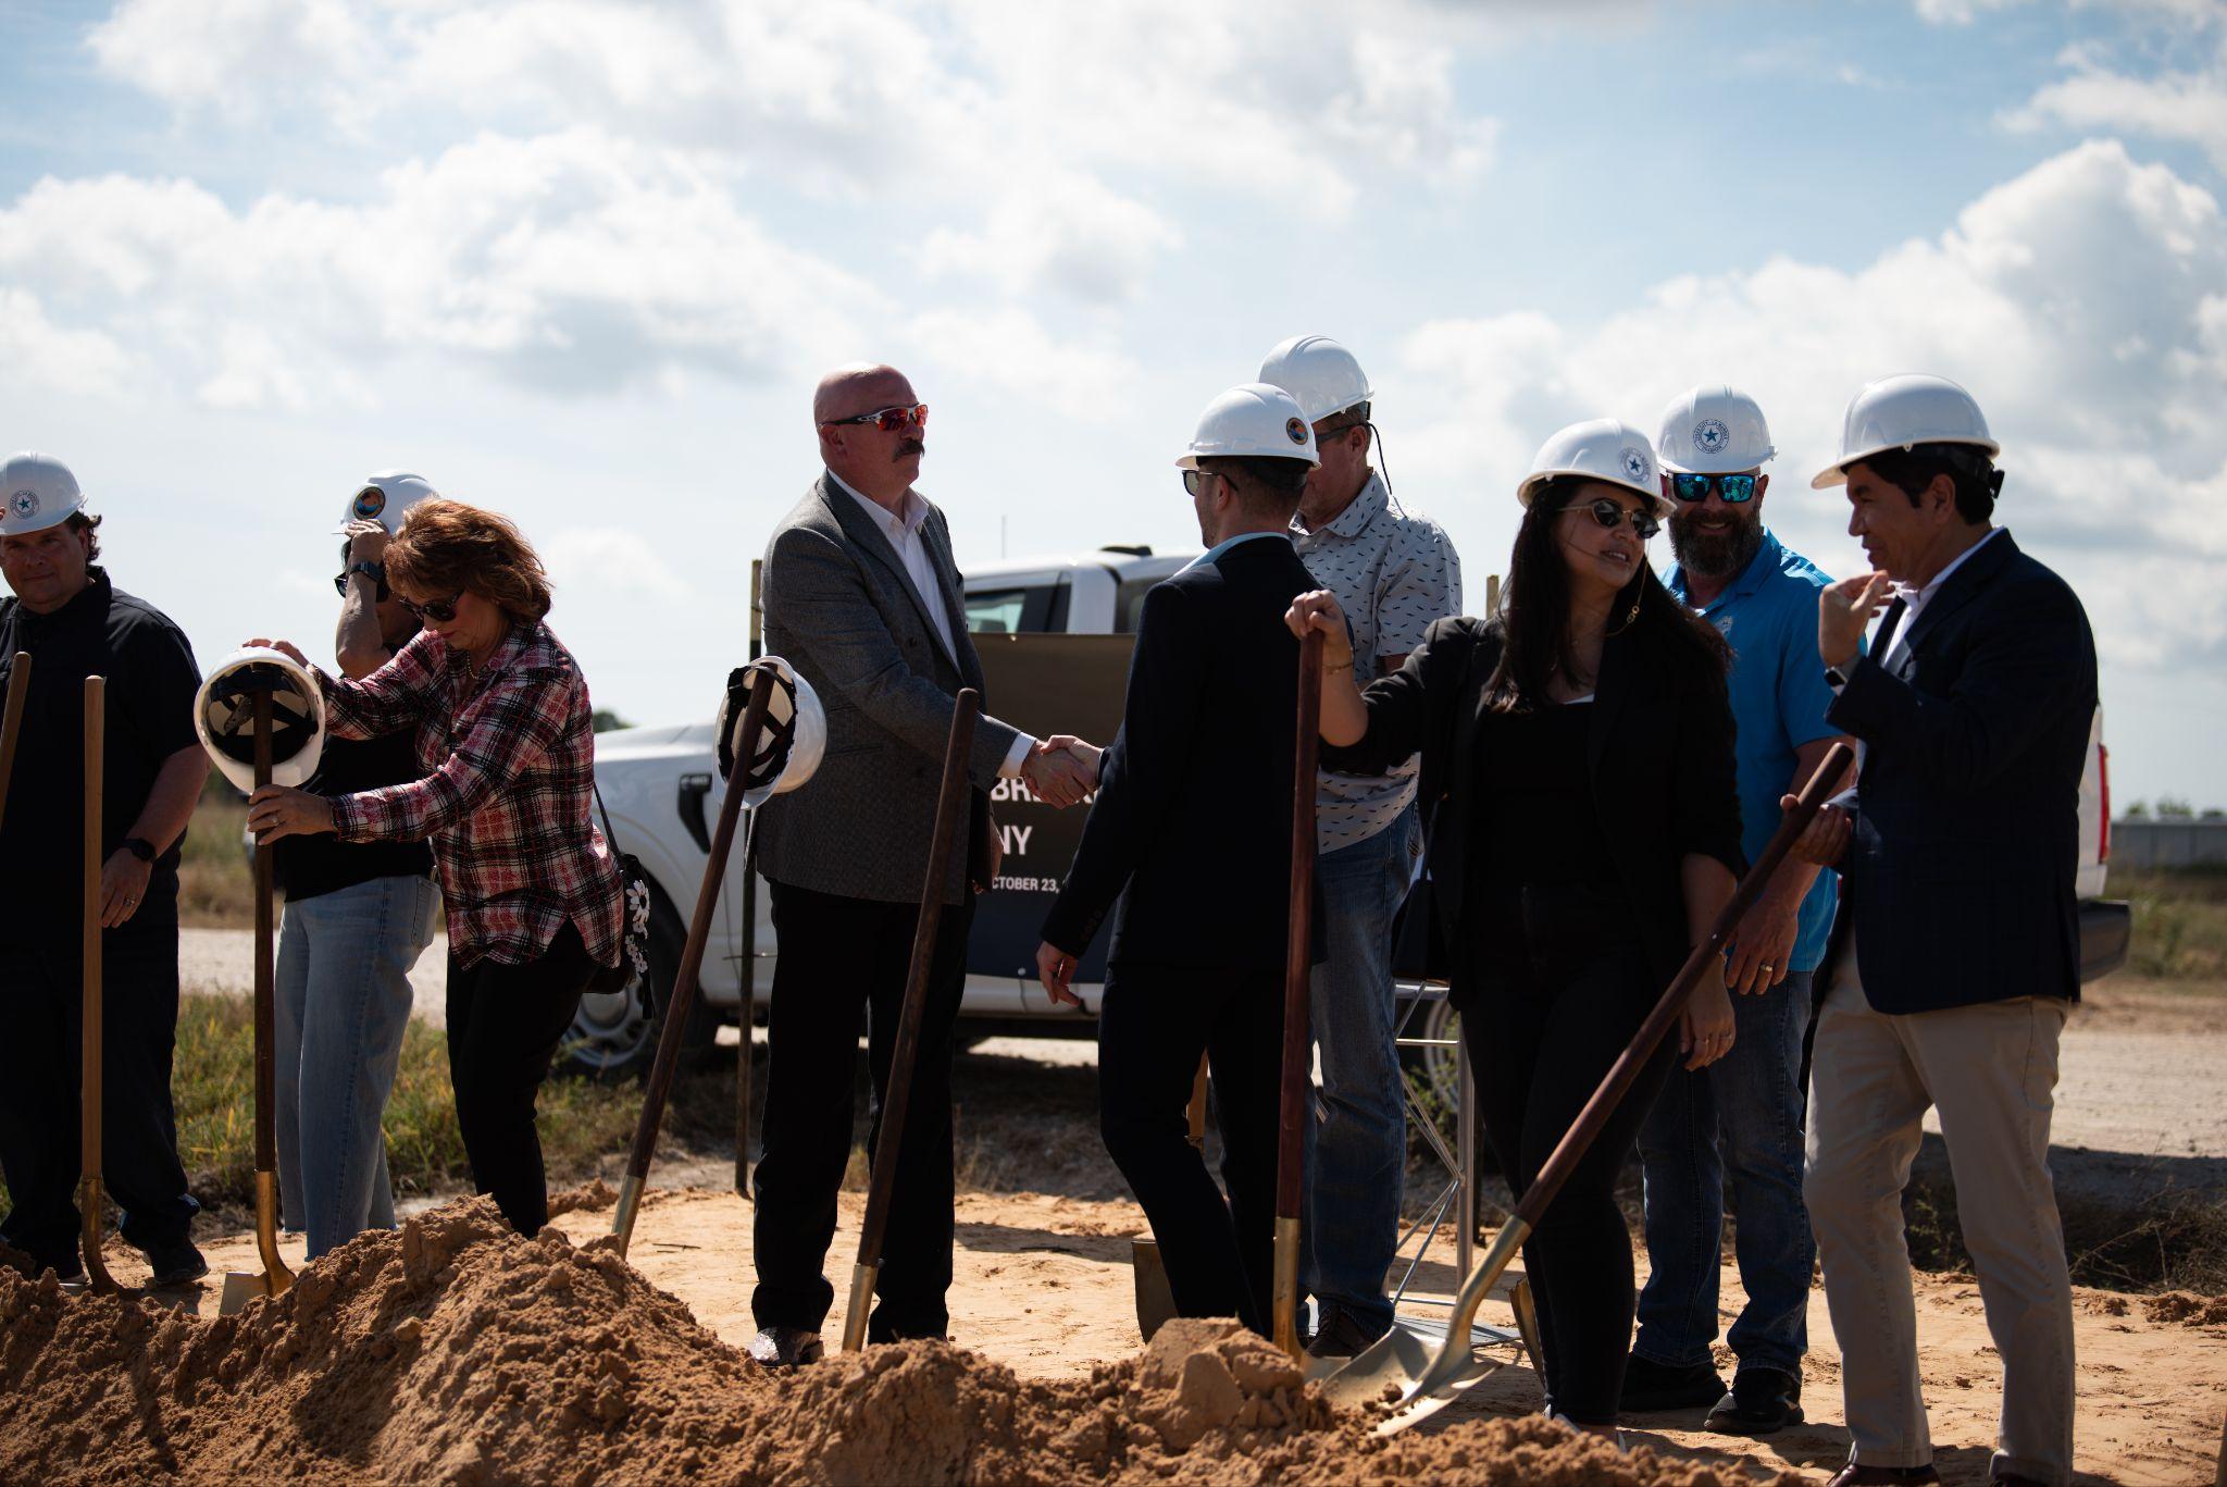
POLYGON ((448 956, 448 1083, 463 1155, 472 1186, 528 1237, 550 1222, 534 1092, 590 976, 595 961, 572 925, 519 965, 448 956))

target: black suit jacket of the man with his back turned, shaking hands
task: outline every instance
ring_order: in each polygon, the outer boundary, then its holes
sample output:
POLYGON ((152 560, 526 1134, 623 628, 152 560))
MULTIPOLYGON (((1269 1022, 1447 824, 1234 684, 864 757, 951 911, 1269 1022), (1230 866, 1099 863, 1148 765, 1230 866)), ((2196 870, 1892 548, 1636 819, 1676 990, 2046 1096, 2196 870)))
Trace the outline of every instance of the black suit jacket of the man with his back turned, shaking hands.
POLYGON ((1283 613, 1309 589, 1289 542, 1252 537, 1145 595, 1120 733, 1049 943, 1080 956, 1111 910, 1114 965, 1283 965, 1298 722, 1283 613))

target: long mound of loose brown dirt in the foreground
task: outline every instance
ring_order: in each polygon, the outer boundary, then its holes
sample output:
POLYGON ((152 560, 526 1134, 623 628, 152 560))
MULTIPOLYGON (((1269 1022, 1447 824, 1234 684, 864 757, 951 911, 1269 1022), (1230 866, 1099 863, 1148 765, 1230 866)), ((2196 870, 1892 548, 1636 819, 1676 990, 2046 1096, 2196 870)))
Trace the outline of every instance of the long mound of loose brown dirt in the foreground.
POLYGON ((212 1322, 0 1273, 0 1483, 1746 1480, 1546 1420, 1383 1442, 1234 1322, 1073 1382, 938 1342, 771 1376, 608 1240, 528 1242, 488 1199, 212 1322))

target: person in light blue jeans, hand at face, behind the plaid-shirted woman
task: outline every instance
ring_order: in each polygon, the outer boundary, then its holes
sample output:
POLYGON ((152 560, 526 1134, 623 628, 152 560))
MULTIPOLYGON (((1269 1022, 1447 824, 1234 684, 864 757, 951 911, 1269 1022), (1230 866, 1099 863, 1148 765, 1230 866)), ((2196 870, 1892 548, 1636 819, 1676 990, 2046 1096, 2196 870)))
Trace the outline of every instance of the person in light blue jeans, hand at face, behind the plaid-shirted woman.
MULTIPOLYGON (((387 591, 387 522, 432 495, 414 475, 374 475, 341 531, 341 676, 387 664, 416 618, 387 591)), ((403 733, 330 740, 310 780, 345 794, 416 778, 403 733)), ((272 845, 285 898, 278 932, 278 1202, 305 1228, 310 1260, 365 1228, 394 1228, 387 1146, 379 1128, 410 1026, 410 968, 432 943, 439 890, 425 843, 292 836, 272 845)))

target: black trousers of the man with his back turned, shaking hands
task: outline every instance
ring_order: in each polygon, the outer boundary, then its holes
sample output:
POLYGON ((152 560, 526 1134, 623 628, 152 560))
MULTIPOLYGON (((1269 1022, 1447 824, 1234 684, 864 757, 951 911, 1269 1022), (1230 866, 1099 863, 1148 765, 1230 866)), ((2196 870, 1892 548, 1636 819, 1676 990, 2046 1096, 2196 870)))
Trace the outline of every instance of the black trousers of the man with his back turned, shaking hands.
POLYGON ((1267 1335, 1276 1255, 1283 972, 1114 965, 1098 1010, 1098 1130, 1160 1244, 1176 1311, 1267 1335), (1185 1110, 1205 1054, 1223 1190, 1185 1110))

